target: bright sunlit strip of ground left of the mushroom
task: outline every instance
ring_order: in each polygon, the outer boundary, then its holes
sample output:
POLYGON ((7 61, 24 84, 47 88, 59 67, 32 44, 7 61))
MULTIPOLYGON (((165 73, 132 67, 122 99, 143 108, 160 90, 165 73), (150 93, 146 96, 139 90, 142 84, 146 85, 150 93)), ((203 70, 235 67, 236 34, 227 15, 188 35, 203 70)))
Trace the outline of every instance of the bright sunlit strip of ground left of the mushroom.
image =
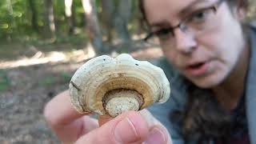
POLYGON ((87 46, 84 50, 72 50, 70 52, 51 51, 49 53, 42 54, 41 51, 38 51, 31 58, 21 58, 15 61, 0 61, 0 69, 54 62, 82 62, 88 58, 94 57, 95 53, 91 46, 87 46))

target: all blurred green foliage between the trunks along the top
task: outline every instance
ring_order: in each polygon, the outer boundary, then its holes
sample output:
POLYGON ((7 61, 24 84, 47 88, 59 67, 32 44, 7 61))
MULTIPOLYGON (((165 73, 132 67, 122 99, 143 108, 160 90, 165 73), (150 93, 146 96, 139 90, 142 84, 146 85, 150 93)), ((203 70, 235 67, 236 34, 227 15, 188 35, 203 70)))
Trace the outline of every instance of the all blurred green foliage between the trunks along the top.
MULTIPOLYGON (((0 0, 0 42, 2 41, 38 41, 42 38, 46 0, 0 0), (30 3, 32 2, 32 4, 30 3), (32 5, 32 6, 31 6, 32 5), (34 7, 34 8, 33 8, 34 7), (33 16, 36 22, 33 21, 33 16), (33 25, 35 23, 36 26, 33 25)), ((98 13, 102 12, 102 0, 95 0, 98 13)), ((119 0, 113 0, 114 5, 118 6, 119 0)), ((85 40, 85 14, 81 0, 73 0, 74 15, 74 35, 81 35, 78 38, 70 34, 70 25, 65 15, 65 1, 53 0, 54 2, 54 22, 56 27, 56 41, 67 42, 72 39, 74 43, 81 43, 85 40), (69 38, 70 37, 70 38, 69 38)), ((133 18, 129 24, 131 31, 136 31, 138 19, 134 17, 138 14, 136 8, 137 1, 133 0, 133 18)), ((99 22, 102 22, 99 18, 99 22)), ((104 30, 102 30, 104 31, 104 30)))

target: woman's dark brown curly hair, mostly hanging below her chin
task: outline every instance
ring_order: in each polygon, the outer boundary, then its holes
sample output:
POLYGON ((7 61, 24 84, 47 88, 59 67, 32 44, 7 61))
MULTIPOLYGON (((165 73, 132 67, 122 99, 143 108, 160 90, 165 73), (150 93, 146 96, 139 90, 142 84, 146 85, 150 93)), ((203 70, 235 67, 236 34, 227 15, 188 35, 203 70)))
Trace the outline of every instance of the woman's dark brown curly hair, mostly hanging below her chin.
MULTIPOLYGON (((250 13, 250 0, 226 0, 226 2, 230 6, 230 10, 243 8, 250 13)), ((144 24, 147 25, 143 0, 139 0, 139 8, 144 24)), ((182 126, 184 139, 189 141, 191 138, 197 138, 199 139, 198 143, 202 143, 210 141, 210 138, 229 135, 231 132, 231 115, 220 106, 213 91, 199 88, 188 80, 185 83, 187 94, 189 94, 185 110, 182 112, 175 111, 174 114, 170 115, 171 121, 174 120, 174 117, 178 119, 180 126, 182 126)))

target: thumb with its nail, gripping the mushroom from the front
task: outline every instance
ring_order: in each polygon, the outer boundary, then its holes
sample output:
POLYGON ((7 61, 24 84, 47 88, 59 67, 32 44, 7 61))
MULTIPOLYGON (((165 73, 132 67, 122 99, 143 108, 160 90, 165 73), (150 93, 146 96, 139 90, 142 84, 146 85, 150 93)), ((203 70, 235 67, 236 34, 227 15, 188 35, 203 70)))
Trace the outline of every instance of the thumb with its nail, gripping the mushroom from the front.
POLYGON ((142 142, 149 130, 150 128, 142 115, 138 112, 130 111, 83 135, 76 144, 142 142))

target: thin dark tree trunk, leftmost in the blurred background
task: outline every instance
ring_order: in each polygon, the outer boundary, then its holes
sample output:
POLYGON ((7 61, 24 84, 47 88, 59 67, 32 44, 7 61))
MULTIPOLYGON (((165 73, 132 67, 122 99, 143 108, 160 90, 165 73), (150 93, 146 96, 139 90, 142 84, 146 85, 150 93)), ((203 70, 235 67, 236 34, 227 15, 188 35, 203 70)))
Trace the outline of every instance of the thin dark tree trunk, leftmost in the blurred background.
POLYGON ((37 13, 37 10, 35 8, 35 4, 34 4, 34 0, 29 0, 29 7, 30 7, 30 11, 31 11, 31 25, 32 25, 32 28, 35 30, 35 31, 39 31, 38 30, 38 13, 37 13))

